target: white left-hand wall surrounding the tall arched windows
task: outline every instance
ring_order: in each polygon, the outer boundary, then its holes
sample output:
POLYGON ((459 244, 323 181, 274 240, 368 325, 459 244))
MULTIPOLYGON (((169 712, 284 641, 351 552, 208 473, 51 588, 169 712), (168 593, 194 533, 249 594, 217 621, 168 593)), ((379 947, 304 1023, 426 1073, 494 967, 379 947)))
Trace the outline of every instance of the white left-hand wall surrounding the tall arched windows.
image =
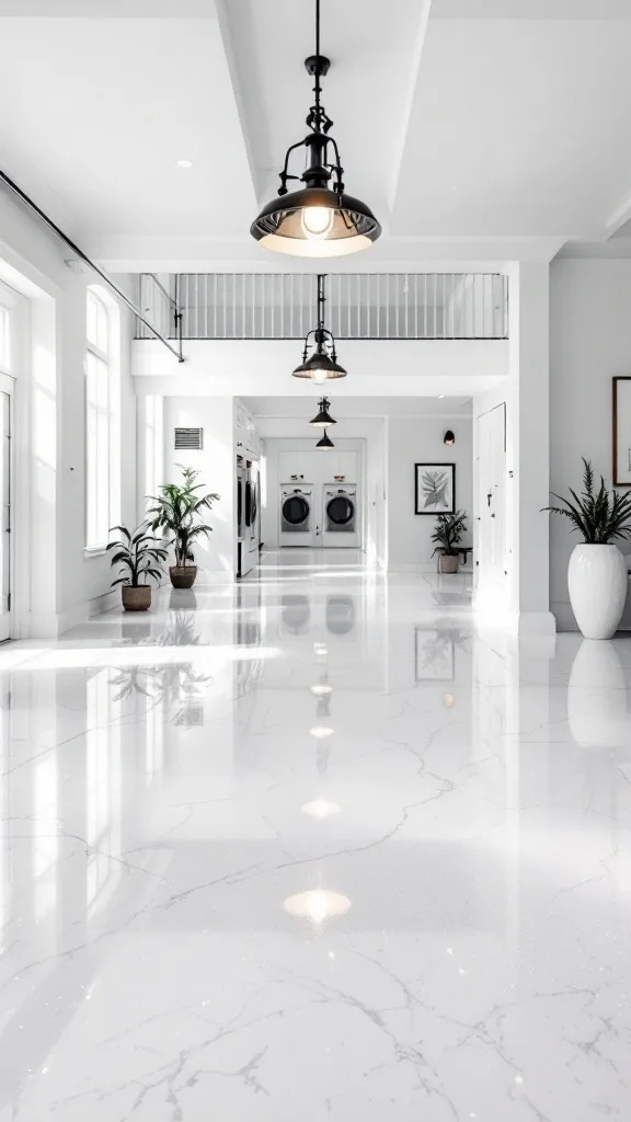
MULTIPOLYGON (((22 591, 25 583, 30 586, 26 600, 31 613, 20 633, 34 637, 54 635, 98 609, 111 580, 107 557, 84 555, 85 288, 97 278, 74 273, 65 264, 68 256, 40 222, 0 193, 0 276, 24 292, 30 311, 25 381, 16 395, 16 412, 22 412, 26 423, 19 426, 20 447, 15 448, 28 486, 15 513, 30 524, 30 549, 17 568, 17 581, 21 580, 22 591)), ((126 284, 125 278, 117 279, 126 284)), ((121 311, 121 517, 135 524, 136 416, 129 342, 129 316, 121 311)), ((19 588, 16 592, 24 603, 19 588)))

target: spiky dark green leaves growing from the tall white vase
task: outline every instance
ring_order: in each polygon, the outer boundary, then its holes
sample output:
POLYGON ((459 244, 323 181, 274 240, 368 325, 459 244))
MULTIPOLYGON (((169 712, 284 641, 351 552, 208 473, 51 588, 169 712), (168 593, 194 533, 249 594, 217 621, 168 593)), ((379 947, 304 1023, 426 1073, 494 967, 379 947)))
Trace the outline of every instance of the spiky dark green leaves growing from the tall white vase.
POLYGON ((552 498, 563 506, 545 506, 551 514, 560 514, 571 522, 570 533, 577 531, 588 545, 607 545, 616 537, 631 537, 631 494, 620 495, 609 491, 601 476, 601 486, 596 490, 594 471, 589 460, 583 457, 583 491, 577 495, 569 488, 574 502, 556 495, 552 498))

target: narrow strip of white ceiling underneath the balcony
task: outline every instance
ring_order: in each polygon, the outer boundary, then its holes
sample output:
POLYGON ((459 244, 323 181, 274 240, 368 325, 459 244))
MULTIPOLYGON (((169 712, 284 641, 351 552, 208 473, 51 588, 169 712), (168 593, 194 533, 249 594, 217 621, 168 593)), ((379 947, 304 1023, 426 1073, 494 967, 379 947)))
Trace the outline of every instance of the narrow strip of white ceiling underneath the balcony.
MULTIPOLYGON (((318 387, 320 388, 320 387, 318 387)), ((322 387, 323 388, 323 387, 322 387)), ((316 401, 320 395, 313 393, 316 401)), ((470 397, 337 397, 335 390, 328 396, 335 398, 332 410, 340 420, 384 416, 461 416, 472 415, 470 397)), ((256 417, 295 417, 304 423, 305 403, 302 397, 244 397, 243 402, 256 417)))

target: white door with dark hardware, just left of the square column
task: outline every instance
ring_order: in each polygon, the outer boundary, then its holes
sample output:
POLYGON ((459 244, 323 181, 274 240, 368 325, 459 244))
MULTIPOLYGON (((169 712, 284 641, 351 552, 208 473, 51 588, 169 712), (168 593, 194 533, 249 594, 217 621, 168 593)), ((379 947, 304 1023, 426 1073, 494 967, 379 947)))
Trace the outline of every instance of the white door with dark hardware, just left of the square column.
POLYGON ((504 583, 506 568, 506 413, 499 405, 477 419, 478 539, 476 563, 485 585, 504 583))

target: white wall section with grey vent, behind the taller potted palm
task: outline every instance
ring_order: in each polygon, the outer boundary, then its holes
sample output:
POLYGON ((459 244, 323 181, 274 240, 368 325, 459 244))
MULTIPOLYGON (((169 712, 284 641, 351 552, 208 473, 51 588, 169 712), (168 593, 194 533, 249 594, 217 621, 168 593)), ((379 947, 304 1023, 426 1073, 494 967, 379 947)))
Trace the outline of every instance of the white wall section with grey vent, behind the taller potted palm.
POLYGON ((177 465, 198 469, 199 482, 220 496, 208 516, 213 527, 195 546, 200 580, 232 580, 236 572, 236 452, 234 397, 166 397, 164 401, 165 482, 181 477, 177 465), (174 449, 175 427, 202 427, 201 451, 174 449))

